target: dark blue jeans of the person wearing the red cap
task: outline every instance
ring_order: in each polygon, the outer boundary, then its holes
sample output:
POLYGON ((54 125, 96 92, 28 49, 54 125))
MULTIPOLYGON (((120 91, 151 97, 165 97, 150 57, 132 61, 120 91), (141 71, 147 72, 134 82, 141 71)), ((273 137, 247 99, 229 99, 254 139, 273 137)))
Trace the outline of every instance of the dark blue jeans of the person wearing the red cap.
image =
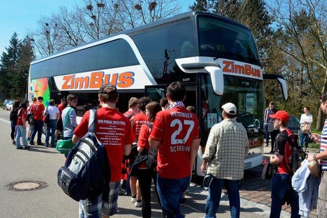
POLYGON ((300 218, 298 214, 298 195, 291 185, 291 178, 287 174, 275 174, 272 178, 270 218, 281 216, 282 204, 285 196, 291 204, 291 218, 300 218))

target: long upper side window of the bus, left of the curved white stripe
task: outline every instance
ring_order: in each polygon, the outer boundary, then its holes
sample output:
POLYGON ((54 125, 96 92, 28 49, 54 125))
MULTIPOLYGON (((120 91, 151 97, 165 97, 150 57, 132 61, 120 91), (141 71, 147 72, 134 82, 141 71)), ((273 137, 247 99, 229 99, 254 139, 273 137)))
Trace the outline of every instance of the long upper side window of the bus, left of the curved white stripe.
POLYGON ((31 79, 139 64, 124 39, 106 42, 31 65, 31 79))

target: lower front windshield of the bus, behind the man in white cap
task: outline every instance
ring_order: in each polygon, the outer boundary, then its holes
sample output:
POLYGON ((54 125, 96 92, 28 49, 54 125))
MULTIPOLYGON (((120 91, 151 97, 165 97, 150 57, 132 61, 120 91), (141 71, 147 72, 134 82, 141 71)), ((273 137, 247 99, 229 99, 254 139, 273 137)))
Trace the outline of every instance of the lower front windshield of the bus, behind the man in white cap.
POLYGON ((221 107, 231 102, 237 107, 237 122, 247 130, 249 138, 262 136, 263 129, 263 82, 241 77, 224 76, 224 94, 218 96, 213 92, 210 77, 201 76, 201 130, 207 138, 210 128, 221 122, 221 107), (259 130, 260 129, 260 130, 259 130))

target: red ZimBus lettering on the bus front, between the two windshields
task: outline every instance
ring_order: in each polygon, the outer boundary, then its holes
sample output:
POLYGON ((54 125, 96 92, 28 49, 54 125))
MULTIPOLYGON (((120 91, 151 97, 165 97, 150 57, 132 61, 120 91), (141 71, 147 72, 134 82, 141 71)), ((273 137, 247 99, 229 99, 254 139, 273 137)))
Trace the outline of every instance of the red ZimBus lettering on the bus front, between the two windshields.
POLYGON ((233 61, 223 61, 225 66, 223 67, 223 72, 231 72, 234 74, 244 74, 247 76, 259 77, 261 78, 260 69, 255 69, 248 64, 237 65, 233 61))

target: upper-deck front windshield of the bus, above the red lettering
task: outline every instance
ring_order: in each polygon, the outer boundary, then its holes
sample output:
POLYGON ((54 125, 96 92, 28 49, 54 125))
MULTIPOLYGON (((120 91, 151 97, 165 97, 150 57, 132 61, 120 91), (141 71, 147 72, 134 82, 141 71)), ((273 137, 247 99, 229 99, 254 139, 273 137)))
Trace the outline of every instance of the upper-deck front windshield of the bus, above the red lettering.
POLYGON ((213 17, 198 17, 199 54, 261 65, 250 30, 213 17))

